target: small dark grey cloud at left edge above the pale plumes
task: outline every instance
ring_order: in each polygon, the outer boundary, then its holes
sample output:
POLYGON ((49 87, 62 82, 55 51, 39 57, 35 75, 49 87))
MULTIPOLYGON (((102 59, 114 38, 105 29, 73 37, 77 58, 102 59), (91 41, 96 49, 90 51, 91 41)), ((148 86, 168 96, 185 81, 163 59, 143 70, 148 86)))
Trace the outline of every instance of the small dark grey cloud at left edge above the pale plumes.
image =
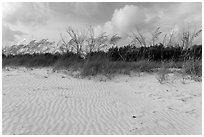
POLYGON ((2 26, 2 43, 3 46, 15 42, 20 36, 26 35, 19 30, 12 30, 9 26, 2 26))

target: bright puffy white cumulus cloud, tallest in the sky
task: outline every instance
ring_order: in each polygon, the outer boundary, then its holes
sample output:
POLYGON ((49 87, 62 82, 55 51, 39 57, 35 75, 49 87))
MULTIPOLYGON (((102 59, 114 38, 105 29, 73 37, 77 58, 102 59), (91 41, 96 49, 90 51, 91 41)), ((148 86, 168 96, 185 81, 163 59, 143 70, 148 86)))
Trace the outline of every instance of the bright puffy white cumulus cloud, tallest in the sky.
POLYGON ((120 33, 121 35, 136 28, 142 31, 150 30, 160 18, 158 14, 150 15, 148 12, 137 5, 126 5, 114 11, 111 21, 106 22, 103 29, 108 30, 109 33, 120 33), (111 30, 114 32, 110 32, 111 30))

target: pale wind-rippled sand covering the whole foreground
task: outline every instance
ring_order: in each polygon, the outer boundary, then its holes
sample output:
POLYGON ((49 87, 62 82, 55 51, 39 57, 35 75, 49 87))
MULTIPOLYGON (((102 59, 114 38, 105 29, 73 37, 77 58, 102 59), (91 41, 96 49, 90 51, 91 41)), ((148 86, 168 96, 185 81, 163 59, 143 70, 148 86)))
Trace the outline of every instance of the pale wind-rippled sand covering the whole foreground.
POLYGON ((78 79, 3 70, 3 134, 201 134, 202 83, 171 74, 78 79))

